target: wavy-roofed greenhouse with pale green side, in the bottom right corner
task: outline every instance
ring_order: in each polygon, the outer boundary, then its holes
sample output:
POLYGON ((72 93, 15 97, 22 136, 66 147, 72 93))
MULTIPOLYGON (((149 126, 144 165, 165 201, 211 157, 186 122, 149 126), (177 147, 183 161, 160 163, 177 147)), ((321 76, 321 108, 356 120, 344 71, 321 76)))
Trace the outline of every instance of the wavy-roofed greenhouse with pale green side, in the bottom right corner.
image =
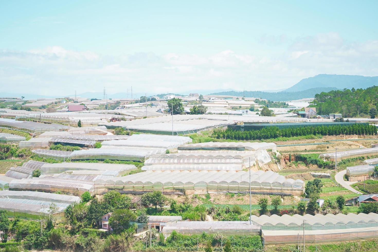
POLYGON ((261 227, 262 230, 327 230, 327 229, 355 229, 365 227, 378 227, 378 214, 376 213, 338 213, 333 215, 305 214, 304 216, 294 214, 278 215, 252 215, 253 224, 261 227))

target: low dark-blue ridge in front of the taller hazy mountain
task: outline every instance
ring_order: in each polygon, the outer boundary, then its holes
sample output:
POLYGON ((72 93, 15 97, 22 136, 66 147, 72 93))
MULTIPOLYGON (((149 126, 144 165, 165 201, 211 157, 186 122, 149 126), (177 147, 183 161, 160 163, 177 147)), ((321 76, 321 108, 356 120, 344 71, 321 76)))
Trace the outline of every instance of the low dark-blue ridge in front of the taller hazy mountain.
MULTIPOLYGON (((281 102, 281 101, 288 101, 288 100, 297 100, 302 98, 310 98, 314 97, 315 94, 321 93, 321 92, 329 92, 331 90, 337 90, 337 88, 310 88, 303 91, 298 92, 287 92, 280 91, 276 93, 271 92, 263 92, 263 91, 245 91, 246 97, 258 97, 262 99, 267 99, 275 102, 281 102)), ((243 91, 228 91, 228 92, 218 92, 218 93, 212 93, 214 95, 232 95, 232 96, 243 96, 243 91)))

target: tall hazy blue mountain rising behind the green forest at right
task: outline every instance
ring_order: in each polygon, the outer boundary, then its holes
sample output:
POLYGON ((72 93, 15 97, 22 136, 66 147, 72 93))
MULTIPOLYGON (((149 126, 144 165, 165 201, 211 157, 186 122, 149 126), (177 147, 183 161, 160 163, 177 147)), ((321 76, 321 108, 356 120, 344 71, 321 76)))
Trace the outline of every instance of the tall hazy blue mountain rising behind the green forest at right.
MULTIPOLYGON (((318 74, 314 77, 302 79, 286 92, 297 92, 308 89, 308 87, 324 88, 336 87, 337 89, 358 89, 378 86, 378 76, 367 77, 360 75, 345 74, 318 74)), ((308 97, 308 96, 307 96, 308 97)))

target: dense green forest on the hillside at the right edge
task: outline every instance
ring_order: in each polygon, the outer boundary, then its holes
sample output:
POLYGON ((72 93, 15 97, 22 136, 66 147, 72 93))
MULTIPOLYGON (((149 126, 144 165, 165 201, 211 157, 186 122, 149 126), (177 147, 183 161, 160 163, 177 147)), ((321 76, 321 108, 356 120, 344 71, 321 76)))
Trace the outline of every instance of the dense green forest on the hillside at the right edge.
POLYGON ((313 104, 317 114, 341 113, 343 117, 370 116, 371 108, 378 109, 378 86, 366 89, 332 90, 315 95, 313 104))

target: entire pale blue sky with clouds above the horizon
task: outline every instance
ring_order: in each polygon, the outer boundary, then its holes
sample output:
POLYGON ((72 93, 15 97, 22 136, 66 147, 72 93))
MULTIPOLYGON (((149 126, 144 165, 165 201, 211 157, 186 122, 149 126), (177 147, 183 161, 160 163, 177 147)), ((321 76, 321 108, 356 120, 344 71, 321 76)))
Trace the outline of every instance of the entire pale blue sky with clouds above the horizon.
MULTIPOLYGON (((378 75, 378 1, 2 1, 0 96, 378 75)), ((25 95, 26 96, 26 95, 25 95)))

